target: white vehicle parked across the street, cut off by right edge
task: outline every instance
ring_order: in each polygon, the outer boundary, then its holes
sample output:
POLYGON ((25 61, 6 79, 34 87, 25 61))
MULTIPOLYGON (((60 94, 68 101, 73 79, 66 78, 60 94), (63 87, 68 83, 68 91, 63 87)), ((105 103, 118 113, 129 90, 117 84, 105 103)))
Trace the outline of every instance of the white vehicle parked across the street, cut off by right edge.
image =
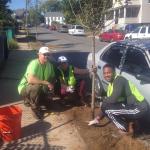
POLYGON ((150 38, 150 26, 137 27, 133 32, 127 33, 125 39, 146 39, 150 38))

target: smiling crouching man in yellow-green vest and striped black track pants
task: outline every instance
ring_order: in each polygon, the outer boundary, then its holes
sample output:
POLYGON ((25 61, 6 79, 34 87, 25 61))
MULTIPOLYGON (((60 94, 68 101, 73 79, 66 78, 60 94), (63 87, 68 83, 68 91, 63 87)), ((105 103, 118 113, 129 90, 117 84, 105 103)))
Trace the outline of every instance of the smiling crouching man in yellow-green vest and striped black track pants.
POLYGON ((97 124, 107 116, 119 130, 128 132, 127 121, 138 121, 146 117, 149 104, 130 81, 116 75, 112 65, 106 64, 103 67, 103 76, 109 82, 107 97, 102 102, 100 114, 89 125, 97 124))

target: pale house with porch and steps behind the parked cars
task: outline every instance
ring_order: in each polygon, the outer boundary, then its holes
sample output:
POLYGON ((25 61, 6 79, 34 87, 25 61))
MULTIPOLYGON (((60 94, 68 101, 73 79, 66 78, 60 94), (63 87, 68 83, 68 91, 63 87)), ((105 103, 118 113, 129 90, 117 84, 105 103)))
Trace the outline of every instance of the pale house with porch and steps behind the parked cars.
POLYGON ((150 23, 150 0, 113 0, 105 15, 105 30, 124 28, 130 23, 150 23))

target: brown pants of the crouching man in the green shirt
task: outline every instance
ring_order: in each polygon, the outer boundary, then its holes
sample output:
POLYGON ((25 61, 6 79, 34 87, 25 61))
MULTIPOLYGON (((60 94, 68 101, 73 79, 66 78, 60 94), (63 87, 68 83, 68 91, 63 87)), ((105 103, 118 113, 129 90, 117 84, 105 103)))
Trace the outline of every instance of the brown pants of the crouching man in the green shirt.
POLYGON ((48 87, 30 84, 21 91, 21 96, 31 105, 32 109, 39 109, 40 103, 44 103, 47 100, 48 87))

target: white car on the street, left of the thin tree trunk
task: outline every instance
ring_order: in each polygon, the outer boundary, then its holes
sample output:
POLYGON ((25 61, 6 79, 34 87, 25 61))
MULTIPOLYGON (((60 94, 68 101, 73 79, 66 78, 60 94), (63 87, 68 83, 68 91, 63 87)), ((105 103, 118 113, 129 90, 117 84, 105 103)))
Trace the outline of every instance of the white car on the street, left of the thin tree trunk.
POLYGON ((80 25, 73 25, 71 29, 68 30, 71 35, 85 35, 84 28, 80 25))

